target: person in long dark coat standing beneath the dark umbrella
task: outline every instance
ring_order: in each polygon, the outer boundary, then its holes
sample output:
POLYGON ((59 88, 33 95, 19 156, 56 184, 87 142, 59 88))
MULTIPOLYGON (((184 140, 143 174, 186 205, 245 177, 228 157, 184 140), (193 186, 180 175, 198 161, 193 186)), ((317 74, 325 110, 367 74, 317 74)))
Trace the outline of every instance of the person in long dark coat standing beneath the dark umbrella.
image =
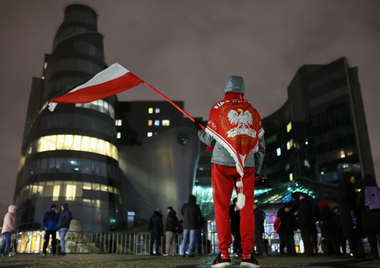
POLYGON ((316 230, 313 210, 309 200, 307 200, 302 193, 299 195, 299 200, 300 203, 298 207, 297 228, 301 231, 301 238, 303 241, 303 246, 305 247, 305 253, 302 256, 313 256, 314 250, 311 242, 311 236, 316 230))

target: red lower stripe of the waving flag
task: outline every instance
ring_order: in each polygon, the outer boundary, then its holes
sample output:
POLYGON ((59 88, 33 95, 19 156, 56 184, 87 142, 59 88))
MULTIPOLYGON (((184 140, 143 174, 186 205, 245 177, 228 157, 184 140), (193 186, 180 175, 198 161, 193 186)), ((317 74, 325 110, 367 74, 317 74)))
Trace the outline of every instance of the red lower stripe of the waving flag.
POLYGON ((74 92, 69 92, 49 101, 49 103, 53 102, 67 104, 93 102, 129 90, 142 82, 143 81, 136 75, 128 72, 116 79, 84 87, 74 92))

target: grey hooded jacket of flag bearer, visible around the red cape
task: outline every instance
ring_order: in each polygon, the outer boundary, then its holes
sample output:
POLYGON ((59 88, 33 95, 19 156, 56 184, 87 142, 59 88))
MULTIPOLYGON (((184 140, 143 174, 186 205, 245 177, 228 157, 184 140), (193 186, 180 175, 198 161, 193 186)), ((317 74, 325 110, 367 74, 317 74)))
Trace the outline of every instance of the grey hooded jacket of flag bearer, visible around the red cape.
MULTIPOLYGON (((244 96, 245 86, 244 80, 241 76, 232 75, 229 77, 224 86, 224 95, 229 93, 237 93, 244 96)), ((223 166, 236 166, 234 158, 231 154, 218 142, 215 141, 205 130, 198 130, 198 137, 201 142, 214 148, 212 152, 211 163, 223 166)), ((248 156, 245 167, 254 167, 255 173, 259 174, 261 170, 262 161, 265 155, 265 141, 264 136, 258 139, 258 151, 251 153, 248 156)))

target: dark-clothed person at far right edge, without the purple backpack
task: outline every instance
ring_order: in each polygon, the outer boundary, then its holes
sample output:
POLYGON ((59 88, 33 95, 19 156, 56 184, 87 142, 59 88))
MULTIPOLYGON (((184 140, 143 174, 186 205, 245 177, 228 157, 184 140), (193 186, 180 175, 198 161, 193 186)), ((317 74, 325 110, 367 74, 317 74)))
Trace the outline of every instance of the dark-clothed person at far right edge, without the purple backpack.
POLYGON ((378 260, 377 236, 380 237, 380 210, 369 210, 365 204, 365 191, 367 187, 377 187, 376 180, 371 175, 363 178, 363 189, 359 192, 356 204, 361 207, 361 226, 368 238, 373 260, 378 260))

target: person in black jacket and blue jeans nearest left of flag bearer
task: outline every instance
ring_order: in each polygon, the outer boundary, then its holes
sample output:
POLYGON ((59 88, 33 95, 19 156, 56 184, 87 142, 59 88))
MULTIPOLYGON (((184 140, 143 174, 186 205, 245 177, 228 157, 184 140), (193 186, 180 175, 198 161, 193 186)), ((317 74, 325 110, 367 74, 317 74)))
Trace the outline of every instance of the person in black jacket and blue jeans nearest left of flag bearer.
POLYGON ((185 257, 186 245, 188 237, 187 256, 195 257, 194 246, 197 237, 197 229, 201 223, 201 208, 196 204, 197 198, 194 195, 188 197, 188 203, 182 205, 181 214, 183 215, 183 240, 182 240, 182 256, 185 257))

